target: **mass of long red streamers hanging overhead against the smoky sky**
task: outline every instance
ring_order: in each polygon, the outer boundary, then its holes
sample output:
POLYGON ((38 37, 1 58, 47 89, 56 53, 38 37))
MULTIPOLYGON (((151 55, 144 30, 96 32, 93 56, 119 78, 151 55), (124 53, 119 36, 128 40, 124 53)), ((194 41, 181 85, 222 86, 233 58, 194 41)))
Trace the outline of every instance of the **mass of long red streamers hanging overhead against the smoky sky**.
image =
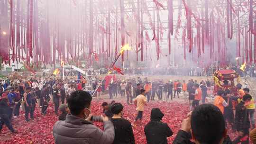
MULTIPOLYGON (((175 45, 182 44, 183 62, 192 60, 201 67, 219 61, 224 66, 231 50, 226 37, 236 38, 236 56, 247 64, 256 63, 253 0, 130 0, 131 11, 125 10, 125 3, 126 0, 120 0, 119 5, 106 0, 43 0, 39 5, 38 0, 1 0, 1 63, 25 59, 34 67, 38 63, 55 65, 61 60, 78 61, 83 57, 91 66, 91 54, 97 62, 113 60, 118 56, 118 47, 125 43, 136 49, 137 61, 144 61, 148 55, 159 60, 161 55, 175 51, 175 47, 171 49, 174 38, 175 45), (99 9, 94 9, 98 4, 99 9), (168 10, 168 16, 162 15, 163 9, 168 10), (98 17, 94 17, 96 13, 98 17), (173 13, 177 13, 177 19, 173 13), (134 32, 128 29, 130 22, 135 24, 134 32), (166 29, 168 32, 164 33, 166 29), (150 41, 155 45, 149 45, 150 41), (168 51, 161 48, 165 41, 168 51), (197 63, 201 57, 210 59, 197 63)), ((128 53, 121 54, 119 64, 126 60, 125 56, 129 60, 128 53)))

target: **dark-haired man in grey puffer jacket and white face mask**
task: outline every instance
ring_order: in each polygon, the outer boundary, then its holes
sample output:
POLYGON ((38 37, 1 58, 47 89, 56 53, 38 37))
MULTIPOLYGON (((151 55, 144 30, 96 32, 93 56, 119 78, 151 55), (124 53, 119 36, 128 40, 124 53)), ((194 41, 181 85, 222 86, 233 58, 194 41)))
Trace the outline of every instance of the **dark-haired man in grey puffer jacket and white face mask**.
POLYGON ((91 95, 82 90, 67 98, 70 113, 53 127, 55 144, 112 144, 115 131, 108 117, 101 116, 104 131, 91 122, 91 95))

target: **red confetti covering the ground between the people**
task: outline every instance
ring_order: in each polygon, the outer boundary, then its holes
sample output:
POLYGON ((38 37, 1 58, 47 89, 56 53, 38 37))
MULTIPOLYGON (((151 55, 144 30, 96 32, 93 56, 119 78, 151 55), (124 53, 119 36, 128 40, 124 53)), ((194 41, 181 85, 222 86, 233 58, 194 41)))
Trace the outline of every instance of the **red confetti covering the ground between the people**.
MULTIPOLYGON (((101 103, 103 101, 92 102, 92 114, 101 115, 102 108, 101 103)), ((118 101, 117 101, 118 102, 118 101)), ((134 105, 128 105, 125 101, 121 101, 124 107, 124 117, 130 122, 133 122, 137 116, 137 111, 134 105)), ((163 122, 167 123, 174 131, 174 135, 168 138, 168 142, 174 140, 178 130, 181 127, 183 119, 189 112, 188 104, 181 104, 179 102, 162 102, 153 101, 148 104, 144 113, 141 123, 137 123, 133 127, 136 144, 146 144, 146 136, 144 134, 144 126, 150 121, 150 112, 152 108, 160 108, 165 117, 163 122)), ((12 125, 18 130, 18 134, 11 134, 6 126, 0 132, 0 144, 54 144, 53 137, 53 125, 57 121, 57 117, 54 114, 53 105, 48 107, 46 116, 41 115, 41 109, 36 108, 35 119, 30 122, 25 121, 24 112, 21 112, 18 118, 12 120, 12 125)), ((102 128, 101 123, 95 123, 95 125, 102 128)), ((229 126, 229 136, 231 139, 236 137, 236 133, 232 133, 229 126)))

